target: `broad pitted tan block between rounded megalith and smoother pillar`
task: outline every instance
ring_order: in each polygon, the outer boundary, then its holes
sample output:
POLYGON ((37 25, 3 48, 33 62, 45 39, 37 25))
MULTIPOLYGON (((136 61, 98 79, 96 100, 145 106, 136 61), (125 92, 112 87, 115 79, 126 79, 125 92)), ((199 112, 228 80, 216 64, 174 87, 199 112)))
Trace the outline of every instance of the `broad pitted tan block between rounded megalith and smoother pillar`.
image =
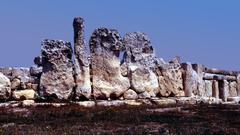
POLYGON ((159 66, 158 80, 161 96, 184 96, 181 65, 178 61, 159 66))

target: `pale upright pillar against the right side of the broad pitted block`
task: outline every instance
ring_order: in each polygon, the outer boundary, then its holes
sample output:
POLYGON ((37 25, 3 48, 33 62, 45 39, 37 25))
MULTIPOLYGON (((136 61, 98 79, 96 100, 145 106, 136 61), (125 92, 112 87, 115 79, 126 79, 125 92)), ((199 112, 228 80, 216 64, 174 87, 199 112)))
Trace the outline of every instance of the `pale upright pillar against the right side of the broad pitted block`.
POLYGON ((196 71, 193 70, 191 63, 182 64, 184 69, 183 72, 183 87, 185 91, 185 96, 191 97, 193 95, 198 95, 198 75, 196 71))

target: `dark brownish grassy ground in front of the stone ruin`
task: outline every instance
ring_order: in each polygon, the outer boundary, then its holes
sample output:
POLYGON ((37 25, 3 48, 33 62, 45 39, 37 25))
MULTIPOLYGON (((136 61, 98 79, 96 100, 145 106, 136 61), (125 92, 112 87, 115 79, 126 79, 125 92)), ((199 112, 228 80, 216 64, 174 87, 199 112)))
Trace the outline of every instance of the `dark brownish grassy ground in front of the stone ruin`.
POLYGON ((0 108, 0 134, 239 135, 240 106, 0 108))

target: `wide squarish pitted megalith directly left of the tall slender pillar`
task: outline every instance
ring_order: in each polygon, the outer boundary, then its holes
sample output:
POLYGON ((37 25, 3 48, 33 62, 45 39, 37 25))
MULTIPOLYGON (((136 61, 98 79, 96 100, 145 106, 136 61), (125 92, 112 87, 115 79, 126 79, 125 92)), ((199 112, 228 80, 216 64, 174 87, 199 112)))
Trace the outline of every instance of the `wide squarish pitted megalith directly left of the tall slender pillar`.
POLYGON ((69 42, 48 39, 42 41, 41 96, 69 99, 75 85, 71 59, 72 48, 69 42))

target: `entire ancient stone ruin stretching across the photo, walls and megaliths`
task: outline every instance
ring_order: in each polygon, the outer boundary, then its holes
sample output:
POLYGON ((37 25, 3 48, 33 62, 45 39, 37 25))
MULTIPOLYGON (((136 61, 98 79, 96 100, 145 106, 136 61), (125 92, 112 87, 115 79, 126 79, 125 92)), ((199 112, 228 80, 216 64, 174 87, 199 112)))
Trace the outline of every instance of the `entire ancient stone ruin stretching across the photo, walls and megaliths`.
POLYGON ((0 100, 118 101, 110 105, 144 99, 167 104, 240 101, 238 71, 181 63, 178 57, 165 62, 142 32, 122 37, 115 29, 98 28, 87 45, 84 20, 74 18, 73 28, 73 48, 70 42, 45 39, 35 66, 0 68, 0 100))

